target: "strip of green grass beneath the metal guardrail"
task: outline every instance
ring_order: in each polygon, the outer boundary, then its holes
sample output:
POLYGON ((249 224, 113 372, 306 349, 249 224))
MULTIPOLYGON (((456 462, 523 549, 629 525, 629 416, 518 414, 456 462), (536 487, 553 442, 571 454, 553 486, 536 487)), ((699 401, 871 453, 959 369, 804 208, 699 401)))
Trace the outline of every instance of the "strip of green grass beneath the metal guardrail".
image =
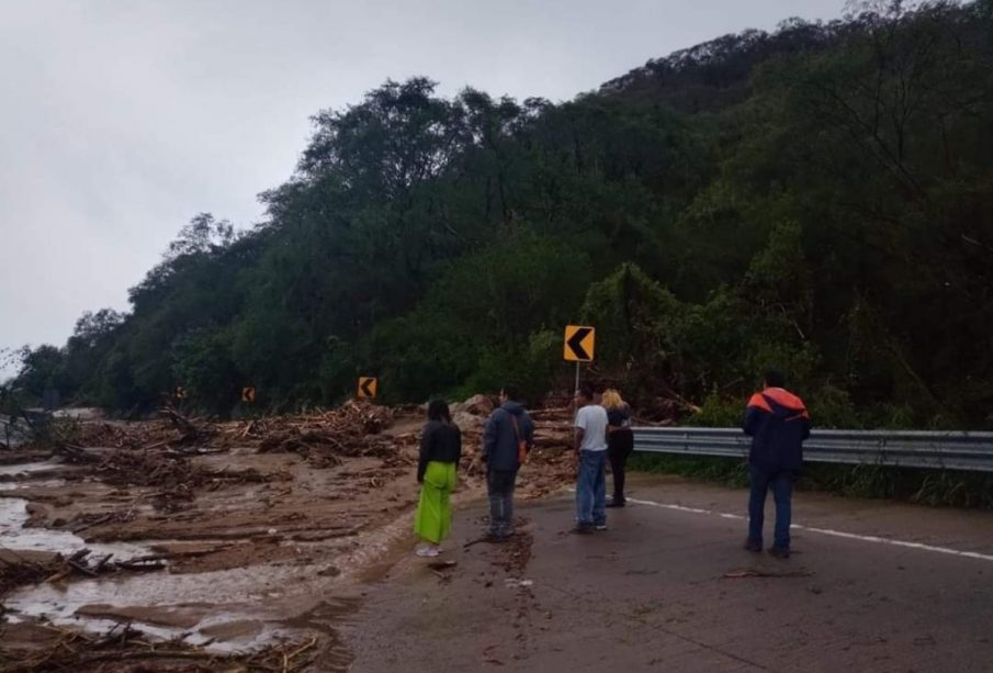
MULTIPOLYGON (((748 485, 748 466, 736 458, 635 453, 628 464, 639 472, 680 474, 733 487, 748 485)), ((933 507, 993 509, 993 474, 980 472, 808 463, 797 489, 933 507)))

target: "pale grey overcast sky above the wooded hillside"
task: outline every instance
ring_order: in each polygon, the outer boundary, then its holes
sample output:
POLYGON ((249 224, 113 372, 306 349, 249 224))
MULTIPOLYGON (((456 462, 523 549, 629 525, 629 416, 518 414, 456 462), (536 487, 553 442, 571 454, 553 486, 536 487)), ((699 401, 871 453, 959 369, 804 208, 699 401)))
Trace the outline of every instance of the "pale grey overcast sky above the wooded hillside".
MULTIPOLYGON (((309 115, 387 77, 566 100, 844 0, 0 0, 0 348, 61 345, 193 215, 238 226, 309 115)), ((2 374, 3 372, 0 372, 2 374)))

